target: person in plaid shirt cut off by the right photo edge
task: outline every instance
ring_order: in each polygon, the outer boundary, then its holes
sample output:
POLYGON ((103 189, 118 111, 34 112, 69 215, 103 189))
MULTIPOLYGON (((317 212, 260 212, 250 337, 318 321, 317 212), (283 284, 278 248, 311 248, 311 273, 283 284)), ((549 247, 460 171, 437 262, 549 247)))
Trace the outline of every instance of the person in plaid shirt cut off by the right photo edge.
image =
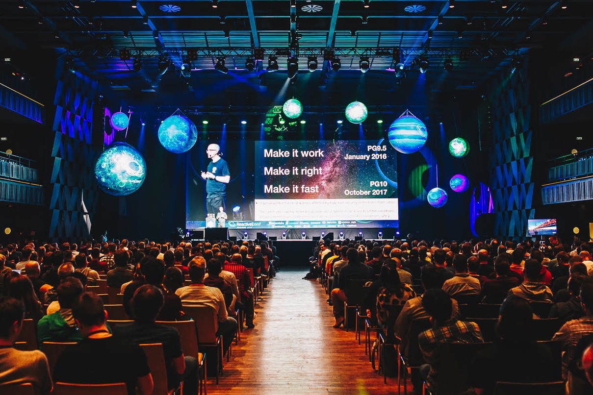
POLYGON ((585 316, 565 323, 552 338, 553 341, 562 342, 563 349, 566 351, 562 357, 562 376, 569 379, 569 386, 571 380, 566 367, 575 356, 576 343, 593 333, 593 281, 591 278, 585 278, 581 284, 579 298, 585 310, 585 316))

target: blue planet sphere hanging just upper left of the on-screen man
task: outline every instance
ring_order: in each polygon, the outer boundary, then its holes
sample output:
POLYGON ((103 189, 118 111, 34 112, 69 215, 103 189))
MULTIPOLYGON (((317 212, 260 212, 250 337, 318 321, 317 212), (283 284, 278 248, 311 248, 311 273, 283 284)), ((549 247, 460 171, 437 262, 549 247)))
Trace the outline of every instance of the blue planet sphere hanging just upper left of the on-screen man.
POLYGON ((186 152, 197 141, 196 126, 183 115, 171 115, 158 127, 158 141, 167 151, 186 152))

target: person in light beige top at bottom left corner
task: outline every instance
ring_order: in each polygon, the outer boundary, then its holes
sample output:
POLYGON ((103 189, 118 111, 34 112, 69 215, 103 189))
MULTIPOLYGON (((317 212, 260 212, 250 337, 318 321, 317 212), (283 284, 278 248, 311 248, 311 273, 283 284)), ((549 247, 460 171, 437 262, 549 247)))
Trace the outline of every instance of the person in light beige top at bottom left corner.
POLYGON ((30 383, 35 394, 49 395, 52 378, 45 354, 39 350, 14 348, 23 327, 24 314, 21 301, 0 297, 0 385, 30 383))

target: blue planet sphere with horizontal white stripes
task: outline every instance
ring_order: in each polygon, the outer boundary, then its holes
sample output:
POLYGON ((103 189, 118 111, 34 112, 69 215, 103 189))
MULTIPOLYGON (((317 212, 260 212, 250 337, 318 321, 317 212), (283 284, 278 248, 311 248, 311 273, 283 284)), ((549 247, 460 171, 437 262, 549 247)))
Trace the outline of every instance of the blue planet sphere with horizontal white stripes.
POLYGON ((425 124, 413 115, 397 118, 387 133, 391 146, 401 153, 414 153, 424 146, 428 138, 425 124))

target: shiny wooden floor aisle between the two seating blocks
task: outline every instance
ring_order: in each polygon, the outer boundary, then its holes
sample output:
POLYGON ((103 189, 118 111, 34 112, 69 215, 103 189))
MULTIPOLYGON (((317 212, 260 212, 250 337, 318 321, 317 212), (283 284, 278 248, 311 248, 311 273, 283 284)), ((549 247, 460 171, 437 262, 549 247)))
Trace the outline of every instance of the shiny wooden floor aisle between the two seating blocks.
MULTIPOLYGON (((256 327, 233 345, 208 394, 395 394, 397 378, 372 370, 355 332, 334 329, 323 287, 304 269, 279 271, 256 306, 256 327), (232 391, 232 392, 231 392, 232 391)), ((402 388, 403 389, 403 388, 402 388)), ((410 388, 409 388, 410 389, 410 388)), ((403 393, 403 391, 402 391, 403 393)))

